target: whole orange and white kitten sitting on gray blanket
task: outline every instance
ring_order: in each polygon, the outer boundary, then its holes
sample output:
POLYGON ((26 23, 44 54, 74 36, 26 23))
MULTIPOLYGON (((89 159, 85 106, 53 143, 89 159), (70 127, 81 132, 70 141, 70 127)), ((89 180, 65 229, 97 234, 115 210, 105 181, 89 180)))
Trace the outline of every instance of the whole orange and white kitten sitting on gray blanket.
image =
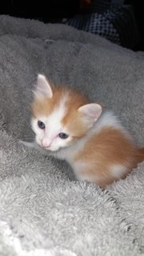
POLYGON ((113 113, 102 114, 102 106, 75 90, 51 86, 42 74, 31 112, 36 142, 66 160, 78 180, 105 187, 144 159, 144 148, 138 149, 113 113))

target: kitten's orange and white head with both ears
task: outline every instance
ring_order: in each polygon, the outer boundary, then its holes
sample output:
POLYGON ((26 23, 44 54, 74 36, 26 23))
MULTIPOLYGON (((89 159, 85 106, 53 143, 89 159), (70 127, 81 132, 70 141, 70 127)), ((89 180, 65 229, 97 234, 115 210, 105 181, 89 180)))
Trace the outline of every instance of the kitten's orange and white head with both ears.
POLYGON ((84 137, 102 113, 102 106, 89 103, 75 90, 52 86, 38 74, 31 112, 36 142, 56 151, 84 137))

